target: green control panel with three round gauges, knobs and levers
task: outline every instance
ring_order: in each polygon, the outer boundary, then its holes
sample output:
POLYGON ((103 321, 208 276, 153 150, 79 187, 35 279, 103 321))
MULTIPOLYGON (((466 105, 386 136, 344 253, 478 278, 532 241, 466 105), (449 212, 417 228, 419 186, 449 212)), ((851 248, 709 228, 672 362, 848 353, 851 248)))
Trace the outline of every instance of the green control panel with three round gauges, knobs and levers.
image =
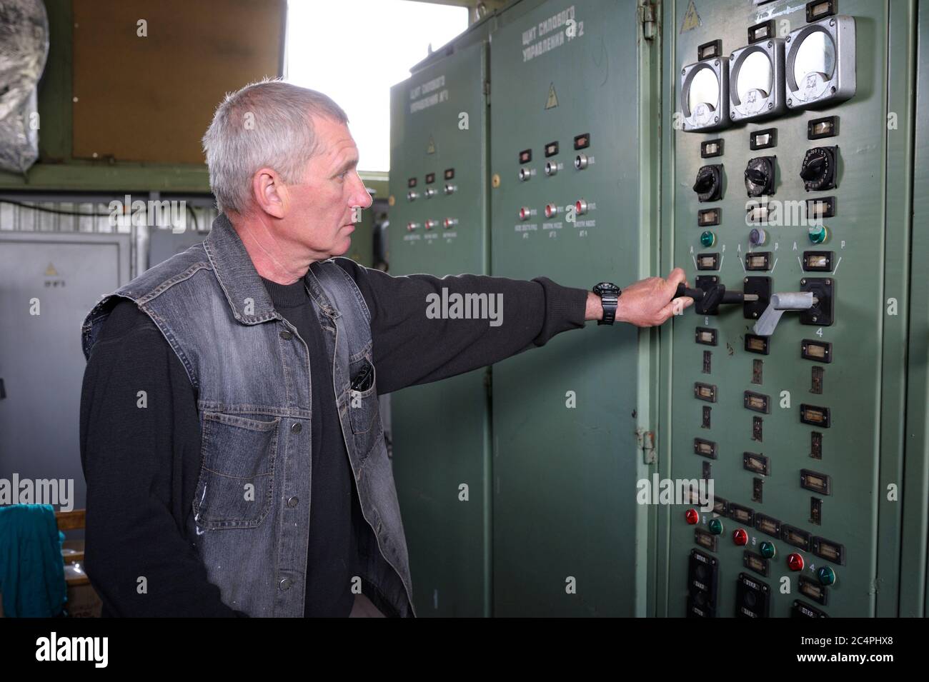
POLYGON ((666 229, 697 302, 671 335, 662 615, 896 610, 899 9, 666 7, 666 229))

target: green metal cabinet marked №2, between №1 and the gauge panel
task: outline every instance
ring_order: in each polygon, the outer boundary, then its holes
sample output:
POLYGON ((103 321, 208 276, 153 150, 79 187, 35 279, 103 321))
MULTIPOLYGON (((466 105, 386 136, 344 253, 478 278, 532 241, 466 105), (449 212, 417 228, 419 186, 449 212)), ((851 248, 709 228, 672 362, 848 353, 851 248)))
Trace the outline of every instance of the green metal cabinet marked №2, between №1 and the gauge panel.
MULTIPOLYGON (((656 48, 640 11, 553 1, 493 33, 493 275, 590 289, 654 273, 656 48)), ((495 615, 648 612, 651 510, 635 493, 655 339, 592 324, 493 367, 495 615)))

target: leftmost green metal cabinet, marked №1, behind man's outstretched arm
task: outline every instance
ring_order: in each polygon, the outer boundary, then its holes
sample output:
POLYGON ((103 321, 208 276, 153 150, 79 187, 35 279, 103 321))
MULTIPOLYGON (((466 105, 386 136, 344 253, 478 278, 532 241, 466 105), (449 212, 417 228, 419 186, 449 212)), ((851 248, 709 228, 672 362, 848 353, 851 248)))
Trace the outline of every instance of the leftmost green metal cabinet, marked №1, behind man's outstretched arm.
MULTIPOLYGON (((480 31, 391 89, 391 275, 487 274, 480 31)), ((391 396, 394 479, 418 615, 490 614, 489 409, 484 369, 391 396)))

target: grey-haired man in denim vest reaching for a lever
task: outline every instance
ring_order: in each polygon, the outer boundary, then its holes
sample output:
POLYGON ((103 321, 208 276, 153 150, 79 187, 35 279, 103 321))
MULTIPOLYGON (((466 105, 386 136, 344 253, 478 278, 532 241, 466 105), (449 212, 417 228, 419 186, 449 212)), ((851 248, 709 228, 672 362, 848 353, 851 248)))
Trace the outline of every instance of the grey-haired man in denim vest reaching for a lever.
POLYGON ((490 365, 607 316, 658 325, 684 273, 618 300, 337 256, 371 199, 347 117, 279 81, 203 138, 222 214, 83 328, 85 566, 107 615, 415 615, 377 395, 490 365), (429 294, 503 294, 503 324, 429 294))

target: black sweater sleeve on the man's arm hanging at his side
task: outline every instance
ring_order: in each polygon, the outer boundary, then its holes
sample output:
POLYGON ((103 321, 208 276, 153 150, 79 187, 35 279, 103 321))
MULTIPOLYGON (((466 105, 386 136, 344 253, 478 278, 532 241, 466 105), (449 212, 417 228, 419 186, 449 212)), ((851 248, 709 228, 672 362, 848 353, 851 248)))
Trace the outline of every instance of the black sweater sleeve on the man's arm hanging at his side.
POLYGON ((106 614, 244 615, 220 600, 184 535, 199 453, 183 366, 148 315, 118 302, 81 395, 86 570, 106 614))

